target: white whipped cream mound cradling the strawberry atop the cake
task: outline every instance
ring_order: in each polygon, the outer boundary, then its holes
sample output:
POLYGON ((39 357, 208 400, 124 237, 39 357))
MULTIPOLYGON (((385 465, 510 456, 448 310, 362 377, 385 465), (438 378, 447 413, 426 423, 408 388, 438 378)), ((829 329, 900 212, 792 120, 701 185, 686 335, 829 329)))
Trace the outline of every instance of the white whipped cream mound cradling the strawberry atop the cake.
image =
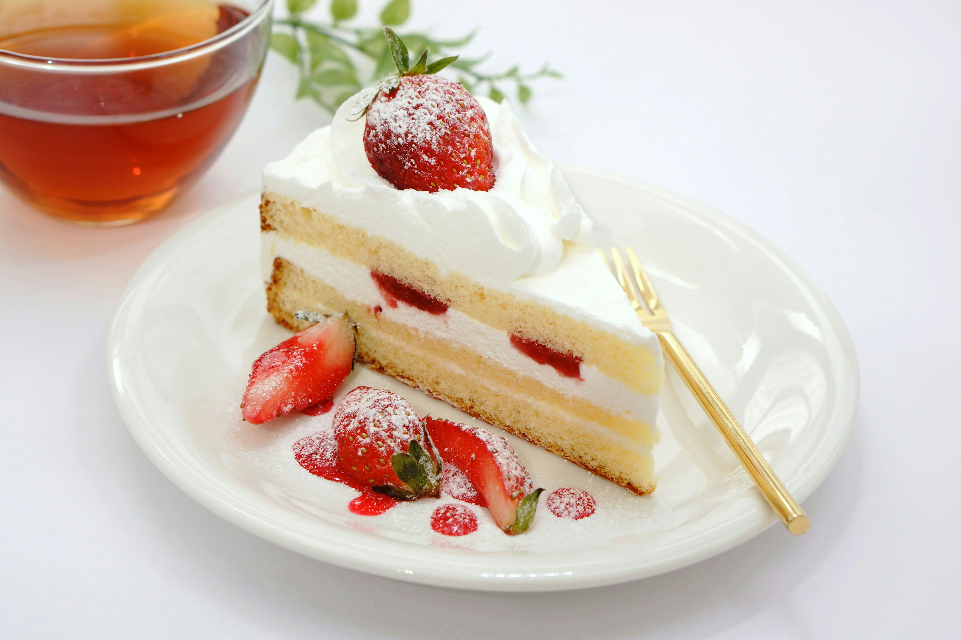
POLYGON ((493 141, 493 188, 429 193, 397 189, 377 175, 363 148, 364 118, 351 115, 356 101, 337 110, 331 127, 267 165, 264 189, 394 240, 442 270, 501 289, 522 275, 551 272, 565 243, 594 246, 591 221, 506 102, 478 98, 493 141))

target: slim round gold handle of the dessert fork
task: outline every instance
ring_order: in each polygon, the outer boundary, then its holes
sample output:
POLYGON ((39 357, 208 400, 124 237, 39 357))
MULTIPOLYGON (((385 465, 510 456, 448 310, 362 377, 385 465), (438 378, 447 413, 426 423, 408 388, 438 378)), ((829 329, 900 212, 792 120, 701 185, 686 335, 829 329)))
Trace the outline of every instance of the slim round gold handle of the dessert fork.
POLYGON ((661 348, 678 369, 680 377, 684 379, 687 388, 698 399, 704 413, 707 414, 714 426, 727 441, 727 446, 734 452, 744 468, 748 470, 754 482, 760 487, 761 493, 768 504, 775 510, 787 530, 795 535, 807 531, 809 522, 801 506, 795 502, 787 488, 781 484, 774 470, 764 460, 764 456, 757 450, 751 437, 745 433, 717 391, 707 382, 701 369, 694 364, 687 350, 678 341, 678 337, 670 331, 658 331, 661 348))

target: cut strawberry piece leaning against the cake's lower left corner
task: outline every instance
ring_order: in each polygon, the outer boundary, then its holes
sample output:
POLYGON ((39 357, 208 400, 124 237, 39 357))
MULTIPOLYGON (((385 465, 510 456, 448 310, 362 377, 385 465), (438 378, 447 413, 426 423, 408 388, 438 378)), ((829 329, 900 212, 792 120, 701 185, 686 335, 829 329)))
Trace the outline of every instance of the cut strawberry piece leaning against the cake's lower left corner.
POLYGON ((347 317, 316 317, 293 338, 261 355, 254 363, 240 409, 254 424, 312 407, 333 395, 354 366, 357 344, 347 317))

